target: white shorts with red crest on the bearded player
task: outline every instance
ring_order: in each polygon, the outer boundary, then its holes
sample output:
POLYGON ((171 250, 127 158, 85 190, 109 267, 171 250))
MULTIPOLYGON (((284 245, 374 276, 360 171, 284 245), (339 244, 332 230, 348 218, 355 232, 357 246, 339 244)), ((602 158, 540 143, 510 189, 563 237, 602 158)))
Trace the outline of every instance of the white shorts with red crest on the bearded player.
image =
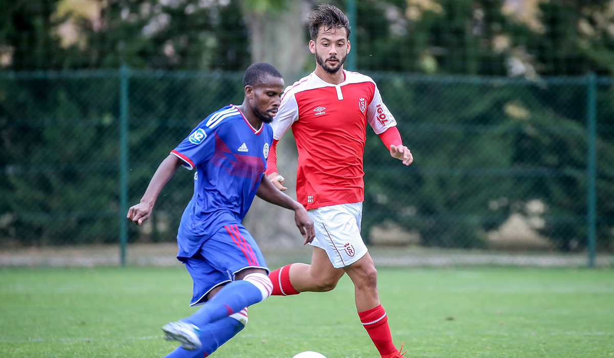
POLYGON ((324 206, 308 213, 316 229, 311 245, 324 249, 333 267, 346 267, 367 254, 360 236, 362 203, 324 206))

